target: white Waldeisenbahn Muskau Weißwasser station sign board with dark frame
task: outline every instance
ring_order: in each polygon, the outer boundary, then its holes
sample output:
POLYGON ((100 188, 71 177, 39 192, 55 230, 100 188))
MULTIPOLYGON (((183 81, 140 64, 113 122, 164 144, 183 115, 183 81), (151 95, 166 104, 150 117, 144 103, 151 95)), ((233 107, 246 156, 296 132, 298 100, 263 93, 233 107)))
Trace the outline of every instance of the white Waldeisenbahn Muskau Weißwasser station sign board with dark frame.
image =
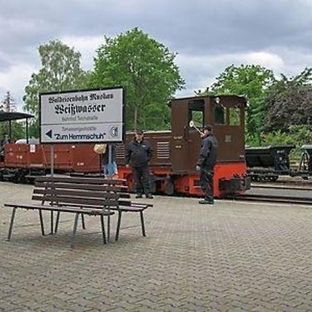
POLYGON ((123 88, 40 94, 40 142, 123 141, 123 88))

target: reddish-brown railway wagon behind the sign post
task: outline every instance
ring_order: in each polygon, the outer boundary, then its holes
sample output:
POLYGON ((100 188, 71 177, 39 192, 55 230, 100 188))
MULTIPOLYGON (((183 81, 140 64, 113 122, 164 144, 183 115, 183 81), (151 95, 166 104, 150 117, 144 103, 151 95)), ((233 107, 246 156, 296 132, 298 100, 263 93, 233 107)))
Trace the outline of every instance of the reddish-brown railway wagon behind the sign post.
MULTIPOLYGON (((101 159, 92 144, 55 144, 55 173, 101 173, 101 159)), ((51 171, 49 144, 6 144, 4 162, 0 163, 0 180, 30 182, 37 175, 51 171)))

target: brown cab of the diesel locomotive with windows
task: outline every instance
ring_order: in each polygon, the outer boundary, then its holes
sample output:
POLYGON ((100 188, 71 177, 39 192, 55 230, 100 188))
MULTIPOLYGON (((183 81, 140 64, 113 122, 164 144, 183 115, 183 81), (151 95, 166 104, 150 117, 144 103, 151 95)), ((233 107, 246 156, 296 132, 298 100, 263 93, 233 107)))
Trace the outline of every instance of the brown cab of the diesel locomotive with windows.
POLYGON ((245 162, 245 98, 205 96, 171 101, 174 172, 195 171, 200 150, 199 129, 209 124, 218 139, 218 162, 245 162))

